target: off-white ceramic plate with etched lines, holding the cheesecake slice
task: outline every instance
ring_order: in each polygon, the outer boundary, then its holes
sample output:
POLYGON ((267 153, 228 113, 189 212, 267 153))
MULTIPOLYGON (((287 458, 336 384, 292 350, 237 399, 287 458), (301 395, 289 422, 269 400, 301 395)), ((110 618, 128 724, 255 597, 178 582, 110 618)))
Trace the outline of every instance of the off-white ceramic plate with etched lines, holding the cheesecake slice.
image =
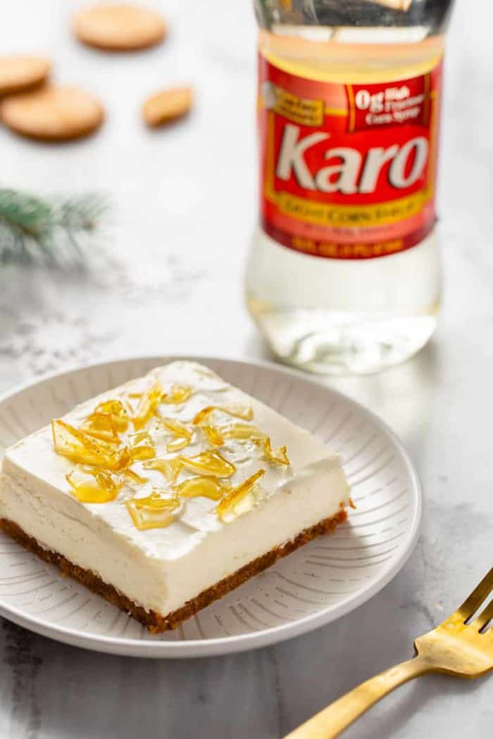
MULTIPOLYGON (((51 375, 0 398, 0 451, 75 403, 174 357, 97 364, 51 375)), ((356 511, 176 631, 153 636, 61 578, 0 532, 0 614, 28 629, 92 650, 142 657, 217 655, 273 644, 344 616, 375 595, 406 562, 418 537, 421 490, 407 453, 370 412, 344 395, 270 364, 194 358, 273 406, 339 452, 356 511)))

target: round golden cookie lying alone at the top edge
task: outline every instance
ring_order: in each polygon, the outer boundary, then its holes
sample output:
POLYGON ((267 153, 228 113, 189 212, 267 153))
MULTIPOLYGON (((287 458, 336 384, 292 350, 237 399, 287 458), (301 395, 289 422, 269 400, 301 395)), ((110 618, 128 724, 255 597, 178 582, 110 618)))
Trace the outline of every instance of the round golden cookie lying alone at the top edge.
POLYGON ((159 13, 136 5, 95 5, 73 19, 79 41, 105 51, 135 51, 159 44, 166 24, 159 13))

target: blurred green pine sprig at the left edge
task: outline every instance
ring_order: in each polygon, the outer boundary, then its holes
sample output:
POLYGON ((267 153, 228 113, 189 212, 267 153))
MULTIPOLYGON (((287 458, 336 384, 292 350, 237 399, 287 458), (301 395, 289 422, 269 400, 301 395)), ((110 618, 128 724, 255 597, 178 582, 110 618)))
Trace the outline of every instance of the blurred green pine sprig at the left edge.
POLYGON ((0 188, 0 262, 85 268, 108 208, 98 193, 45 200, 0 188))

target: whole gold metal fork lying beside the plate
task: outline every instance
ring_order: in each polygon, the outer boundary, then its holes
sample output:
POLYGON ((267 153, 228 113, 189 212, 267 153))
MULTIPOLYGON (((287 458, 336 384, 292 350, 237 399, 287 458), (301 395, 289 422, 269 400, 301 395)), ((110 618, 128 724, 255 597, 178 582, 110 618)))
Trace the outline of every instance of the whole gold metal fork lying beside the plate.
POLYGON ((385 670, 334 701, 285 739, 333 739, 358 716, 408 680, 443 672, 459 678, 480 678, 493 669, 493 601, 474 616, 493 590, 493 568, 466 601, 443 624, 415 640, 415 657, 385 670))

